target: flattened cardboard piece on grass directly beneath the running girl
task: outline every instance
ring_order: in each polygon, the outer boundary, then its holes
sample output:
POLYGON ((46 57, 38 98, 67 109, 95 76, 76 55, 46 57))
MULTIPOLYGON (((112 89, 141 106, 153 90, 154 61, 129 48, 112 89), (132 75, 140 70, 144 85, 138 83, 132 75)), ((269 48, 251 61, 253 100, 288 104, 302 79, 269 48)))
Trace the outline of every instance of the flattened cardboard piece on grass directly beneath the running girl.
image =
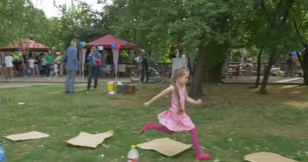
POLYGON ((171 140, 170 138, 159 138, 149 142, 140 143, 136 146, 140 147, 141 149, 155 150, 166 156, 174 156, 189 149, 192 145, 177 142, 171 140))

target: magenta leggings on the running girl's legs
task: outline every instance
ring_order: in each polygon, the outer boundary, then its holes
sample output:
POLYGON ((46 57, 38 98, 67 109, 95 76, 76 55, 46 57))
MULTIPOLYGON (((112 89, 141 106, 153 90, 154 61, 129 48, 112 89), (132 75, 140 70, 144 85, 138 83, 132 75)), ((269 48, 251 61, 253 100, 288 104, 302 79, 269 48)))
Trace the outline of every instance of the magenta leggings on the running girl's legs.
MULTIPOLYGON (((148 126, 149 130, 157 130, 163 133, 167 133, 172 135, 174 132, 169 130, 167 127, 165 126, 161 126, 161 125, 155 125, 155 124, 151 124, 148 126)), ((197 130, 196 129, 192 129, 190 131, 188 131, 190 133, 191 136, 191 143, 193 143, 194 147, 195 147, 195 151, 197 154, 202 153, 200 150, 200 146, 199 146, 199 141, 198 141, 198 137, 197 137, 197 130)))

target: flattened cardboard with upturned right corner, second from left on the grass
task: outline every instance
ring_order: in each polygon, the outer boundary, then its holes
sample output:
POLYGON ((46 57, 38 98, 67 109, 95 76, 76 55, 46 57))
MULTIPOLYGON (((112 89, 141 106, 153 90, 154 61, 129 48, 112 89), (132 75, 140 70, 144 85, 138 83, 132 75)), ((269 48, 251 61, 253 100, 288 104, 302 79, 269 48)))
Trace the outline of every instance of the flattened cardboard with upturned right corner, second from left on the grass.
POLYGON ((80 134, 77 137, 69 139, 66 142, 74 146, 96 148, 99 144, 103 143, 106 138, 109 138, 112 135, 113 135, 112 130, 99 134, 80 132, 80 134))

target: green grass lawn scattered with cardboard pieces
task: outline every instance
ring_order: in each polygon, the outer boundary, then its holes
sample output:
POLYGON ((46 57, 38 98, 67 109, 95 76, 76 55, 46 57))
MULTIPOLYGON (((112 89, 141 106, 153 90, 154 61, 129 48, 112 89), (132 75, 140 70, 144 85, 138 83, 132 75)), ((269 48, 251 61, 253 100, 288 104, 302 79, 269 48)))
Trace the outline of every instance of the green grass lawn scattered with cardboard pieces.
MULTIPOLYGON (((190 144, 187 132, 166 135, 153 130, 140 134, 147 121, 157 123, 157 114, 166 110, 170 98, 145 108, 143 103, 168 85, 138 85, 135 94, 109 96, 105 85, 86 93, 64 94, 64 85, 1 89, 1 97, 12 102, 0 105, 0 136, 40 131, 49 138, 5 143, 11 161, 126 161, 130 145, 155 138, 190 144), (17 105, 25 102, 25 105, 17 105), (73 147, 65 141, 81 131, 114 135, 97 149, 73 147)), ((304 162, 308 161, 308 87, 270 86, 270 95, 258 95, 247 86, 204 85, 210 95, 202 106, 186 106, 193 119, 203 151, 215 161, 244 161, 245 154, 267 151, 304 162)), ((194 149, 166 157, 138 149, 140 161, 195 161, 194 149)))

